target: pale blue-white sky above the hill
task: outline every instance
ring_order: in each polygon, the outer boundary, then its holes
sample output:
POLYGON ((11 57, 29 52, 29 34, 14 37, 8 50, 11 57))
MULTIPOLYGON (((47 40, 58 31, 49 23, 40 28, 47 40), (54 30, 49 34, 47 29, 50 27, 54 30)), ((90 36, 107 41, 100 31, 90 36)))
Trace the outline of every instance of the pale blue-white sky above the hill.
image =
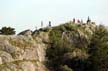
POLYGON ((108 25, 108 0, 0 0, 0 28, 14 27, 17 33, 36 27, 53 26, 87 17, 108 25))

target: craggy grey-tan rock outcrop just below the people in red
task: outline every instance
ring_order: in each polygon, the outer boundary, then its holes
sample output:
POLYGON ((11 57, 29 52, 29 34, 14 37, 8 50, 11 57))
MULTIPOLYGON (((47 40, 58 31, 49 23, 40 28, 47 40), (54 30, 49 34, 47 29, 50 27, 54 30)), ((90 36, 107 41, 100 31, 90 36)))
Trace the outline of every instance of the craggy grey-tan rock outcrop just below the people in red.
POLYGON ((75 28, 74 31, 64 31, 62 33, 62 40, 71 43, 73 47, 87 48, 96 25, 93 23, 76 25, 78 25, 78 28, 75 28))

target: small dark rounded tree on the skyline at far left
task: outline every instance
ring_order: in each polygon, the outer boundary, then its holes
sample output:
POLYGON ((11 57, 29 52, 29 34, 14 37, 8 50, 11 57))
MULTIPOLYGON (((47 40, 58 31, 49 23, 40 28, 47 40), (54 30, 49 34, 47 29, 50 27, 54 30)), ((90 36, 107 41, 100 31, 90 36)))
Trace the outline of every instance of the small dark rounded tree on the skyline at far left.
POLYGON ((15 34, 15 29, 11 27, 2 27, 0 30, 0 34, 3 35, 14 35, 15 34))

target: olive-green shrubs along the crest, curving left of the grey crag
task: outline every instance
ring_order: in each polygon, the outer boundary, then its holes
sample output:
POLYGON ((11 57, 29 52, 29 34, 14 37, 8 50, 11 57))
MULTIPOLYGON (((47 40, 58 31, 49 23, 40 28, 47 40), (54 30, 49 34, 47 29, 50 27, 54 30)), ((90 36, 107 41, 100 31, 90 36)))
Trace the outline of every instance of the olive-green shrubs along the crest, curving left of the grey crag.
POLYGON ((73 31, 72 33, 76 32, 77 26, 74 24, 66 23, 63 25, 60 25, 58 27, 53 27, 53 29, 50 31, 49 39, 51 43, 56 43, 58 41, 61 41, 63 32, 66 31, 73 31))

